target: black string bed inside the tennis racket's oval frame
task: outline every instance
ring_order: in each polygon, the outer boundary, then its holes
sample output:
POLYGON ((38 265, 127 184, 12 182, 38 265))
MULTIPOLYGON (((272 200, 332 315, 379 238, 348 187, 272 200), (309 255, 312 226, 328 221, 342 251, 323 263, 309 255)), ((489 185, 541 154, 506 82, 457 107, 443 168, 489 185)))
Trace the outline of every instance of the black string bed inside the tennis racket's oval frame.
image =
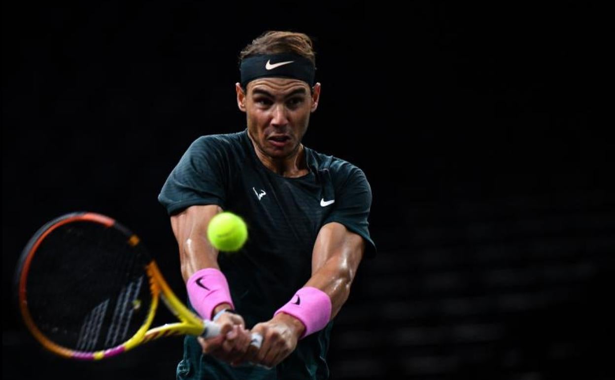
POLYGON ((117 228, 72 222, 34 253, 26 297, 50 340, 80 351, 117 346, 143 324, 151 302, 145 250, 117 228))

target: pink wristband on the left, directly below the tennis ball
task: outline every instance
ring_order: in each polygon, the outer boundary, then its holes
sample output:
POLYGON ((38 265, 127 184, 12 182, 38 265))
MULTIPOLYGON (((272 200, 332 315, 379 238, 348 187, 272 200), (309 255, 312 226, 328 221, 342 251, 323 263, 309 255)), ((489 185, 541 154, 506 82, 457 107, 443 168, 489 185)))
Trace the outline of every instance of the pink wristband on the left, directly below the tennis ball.
POLYGON ((211 320, 213 309, 220 304, 228 303, 234 307, 226 277, 218 269, 198 270, 188 278, 186 289, 192 307, 203 319, 211 320))

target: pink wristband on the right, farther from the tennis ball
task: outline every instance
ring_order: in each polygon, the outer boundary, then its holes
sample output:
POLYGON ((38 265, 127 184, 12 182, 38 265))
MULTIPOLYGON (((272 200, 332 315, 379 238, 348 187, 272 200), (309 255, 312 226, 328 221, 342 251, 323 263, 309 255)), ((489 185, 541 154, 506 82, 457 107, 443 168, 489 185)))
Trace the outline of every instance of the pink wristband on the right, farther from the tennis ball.
POLYGON ((279 313, 287 313, 300 320, 306 326, 301 335, 301 338, 305 338, 327 326, 331 319, 331 299, 322 290, 307 286, 299 289, 293 299, 280 307, 274 315, 279 313))

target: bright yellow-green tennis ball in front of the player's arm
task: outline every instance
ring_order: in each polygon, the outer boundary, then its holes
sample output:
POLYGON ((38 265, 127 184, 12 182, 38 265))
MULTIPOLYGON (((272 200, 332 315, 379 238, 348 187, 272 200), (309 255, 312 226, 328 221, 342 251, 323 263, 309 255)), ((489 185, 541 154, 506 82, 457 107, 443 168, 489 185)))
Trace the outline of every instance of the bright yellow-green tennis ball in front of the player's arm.
POLYGON ((207 226, 207 238, 220 251, 235 252, 248 239, 248 228, 243 219, 232 212, 220 212, 207 226))

